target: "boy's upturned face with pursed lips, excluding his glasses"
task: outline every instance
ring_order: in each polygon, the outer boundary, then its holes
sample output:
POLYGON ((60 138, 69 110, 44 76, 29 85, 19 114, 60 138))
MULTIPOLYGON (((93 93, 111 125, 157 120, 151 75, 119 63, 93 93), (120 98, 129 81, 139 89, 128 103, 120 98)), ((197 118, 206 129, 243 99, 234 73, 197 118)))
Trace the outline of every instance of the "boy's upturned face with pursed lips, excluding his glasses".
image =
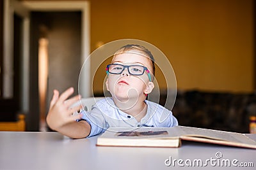
MULTIPOLYGON (((131 52, 115 55, 112 60, 112 64, 145 66, 152 73, 150 63, 151 61, 147 57, 131 52)), ((149 81, 147 71, 144 71, 141 76, 135 76, 129 74, 127 68, 125 68, 121 74, 109 73, 106 87, 112 97, 120 101, 127 101, 128 99, 139 99, 139 97, 145 99, 145 94, 149 94, 152 91, 154 83, 149 81)))

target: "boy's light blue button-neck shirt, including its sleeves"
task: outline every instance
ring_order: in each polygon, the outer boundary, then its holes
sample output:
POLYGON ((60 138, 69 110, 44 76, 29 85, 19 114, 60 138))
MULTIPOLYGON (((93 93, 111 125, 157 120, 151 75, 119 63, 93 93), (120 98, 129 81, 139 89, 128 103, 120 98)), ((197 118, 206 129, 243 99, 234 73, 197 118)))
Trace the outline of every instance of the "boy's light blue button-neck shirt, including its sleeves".
POLYGON ((92 127, 90 136, 100 134, 109 127, 172 127, 178 125, 177 119, 172 115, 172 111, 163 106, 145 101, 148 105, 147 114, 138 122, 135 117, 124 113, 116 108, 111 97, 106 97, 97 101, 92 107, 92 111, 83 111, 82 120, 86 120, 92 127))

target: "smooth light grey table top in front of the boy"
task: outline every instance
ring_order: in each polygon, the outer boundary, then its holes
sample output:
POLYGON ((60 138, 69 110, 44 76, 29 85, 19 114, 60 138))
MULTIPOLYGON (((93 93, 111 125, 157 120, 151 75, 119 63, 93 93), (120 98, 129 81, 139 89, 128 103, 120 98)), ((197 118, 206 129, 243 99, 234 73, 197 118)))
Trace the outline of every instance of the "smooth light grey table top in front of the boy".
MULTIPOLYGON (((255 134, 249 137, 256 140, 255 134)), ((246 148, 188 141, 180 148, 125 148, 95 146, 96 141, 97 136, 70 139, 58 132, 0 132, 0 169, 242 169, 232 161, 254 166, 243 169, 256 167, 256 150, 246 148), (174 166, 168 166, 170 158, 177 160, 174 166), (207 166, 200 167, 200 160, 207 166)))

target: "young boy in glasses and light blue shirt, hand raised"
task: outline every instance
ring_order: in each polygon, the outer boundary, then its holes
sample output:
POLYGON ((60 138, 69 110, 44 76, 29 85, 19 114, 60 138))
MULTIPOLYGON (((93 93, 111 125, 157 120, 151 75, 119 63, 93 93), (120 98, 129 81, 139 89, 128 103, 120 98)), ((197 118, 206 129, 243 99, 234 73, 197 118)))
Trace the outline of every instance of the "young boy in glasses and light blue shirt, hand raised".
POLYGON ((72 115, 81 106, 70 108, 80 96, 68 97, 74 92, 67 89, 61 96, 54 95, 47 114, 51 129, 70 138, 86 138, 100 134, 108 127, 172 127, 178 125, 172 111, 147 101, 147 94, 154 89, 154 57, 140 45, 125 45, 114 55, 106 67, 107 90, 112 97, 98 101, 92 111, 72 115), (60 97, 59 97, 60 96, 60 97))

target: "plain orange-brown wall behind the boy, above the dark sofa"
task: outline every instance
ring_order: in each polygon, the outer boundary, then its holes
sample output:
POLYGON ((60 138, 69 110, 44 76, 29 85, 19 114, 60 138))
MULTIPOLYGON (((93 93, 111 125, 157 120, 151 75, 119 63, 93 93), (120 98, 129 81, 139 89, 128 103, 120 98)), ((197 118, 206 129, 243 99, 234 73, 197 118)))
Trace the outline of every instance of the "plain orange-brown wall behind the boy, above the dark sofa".
MULTIPOLYGON (((180 90, 252 92, 252 0, 91 0, 90 4, 92 50, 100 41, 141 39, 165 53, 180 90)), ((95 59, 92 64, 97 64, 95 59)), ((104 66, 98 72, 95 92, 102 91, 104 66)), ((163 76, 157 80, 164 81, 163 76)))

